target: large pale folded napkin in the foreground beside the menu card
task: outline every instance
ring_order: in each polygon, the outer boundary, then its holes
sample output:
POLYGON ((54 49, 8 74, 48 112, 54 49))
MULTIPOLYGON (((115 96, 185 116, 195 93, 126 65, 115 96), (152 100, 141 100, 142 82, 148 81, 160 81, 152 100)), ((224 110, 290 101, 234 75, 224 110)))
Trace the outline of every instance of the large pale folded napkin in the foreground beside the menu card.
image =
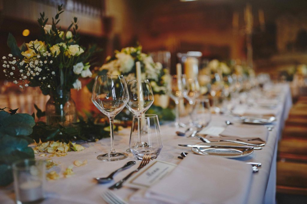
POLYGON ((252 178, 251 165, 242 161, 188 154, 163 180, 133 203, 243 204, 247 203, 252 178))

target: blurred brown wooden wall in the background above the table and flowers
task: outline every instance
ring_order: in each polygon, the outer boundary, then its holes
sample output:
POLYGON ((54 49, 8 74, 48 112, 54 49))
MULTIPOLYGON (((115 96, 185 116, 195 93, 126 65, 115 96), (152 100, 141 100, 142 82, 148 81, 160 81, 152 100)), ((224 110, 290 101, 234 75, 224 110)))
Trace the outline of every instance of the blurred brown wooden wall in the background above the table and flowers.
POLYGON ((51 19, 59 4, 65 9, 60 25, 65 28, 77 16, 81 44, 96 43, 104 49, 97 56, 100 65, 113 50, 137 43, 145 52, 170 51, 173 67, 176 54, 186 51, 201 51, 206 59, 244 62, 247 5, 253 16, 256 71, 307 63, 305 0, 0 0, 0 54, 10 51, 9 32, 18 44, 36 39, 39 12, 51 19), (22 35, 25 29, 27 36, 22 35))

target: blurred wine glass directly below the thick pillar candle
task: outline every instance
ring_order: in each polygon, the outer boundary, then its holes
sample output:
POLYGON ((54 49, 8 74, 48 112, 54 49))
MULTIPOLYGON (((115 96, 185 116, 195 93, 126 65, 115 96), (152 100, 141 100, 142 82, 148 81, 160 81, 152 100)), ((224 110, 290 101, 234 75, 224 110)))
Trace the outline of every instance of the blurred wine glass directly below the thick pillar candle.
POLYGON ((193 125, 193 111, 195 109, 195 100, 200 95, 200 86, 196 77, 192 79, 186 79, 186 95, 184 96, 189 104, 191 105, 191 110, 189 112, 190 125, 193 125))

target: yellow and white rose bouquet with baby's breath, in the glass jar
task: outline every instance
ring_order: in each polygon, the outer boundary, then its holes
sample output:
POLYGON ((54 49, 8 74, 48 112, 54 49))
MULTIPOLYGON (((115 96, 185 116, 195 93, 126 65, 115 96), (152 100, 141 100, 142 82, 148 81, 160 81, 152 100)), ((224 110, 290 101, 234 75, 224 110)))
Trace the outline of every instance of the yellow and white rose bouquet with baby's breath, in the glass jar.
POLYGON ((56 27, 63 12, 62 5, 58 6, 52 24, 47 24, 49 19, 44 12, 40 13, 37 20, 42 33, 40 39, 18 47, 13 35, 9 34, 7 43, 12 53, 2 57, 3 72, 19 87, 39 86, 44 95, 49 95, 59 90, 70 91, 71 88, 79 90, 81 82, 78 78, 92 76, 90 58, 96 47, 85 51, 79 45, 76 17, 67 30, 56 27))

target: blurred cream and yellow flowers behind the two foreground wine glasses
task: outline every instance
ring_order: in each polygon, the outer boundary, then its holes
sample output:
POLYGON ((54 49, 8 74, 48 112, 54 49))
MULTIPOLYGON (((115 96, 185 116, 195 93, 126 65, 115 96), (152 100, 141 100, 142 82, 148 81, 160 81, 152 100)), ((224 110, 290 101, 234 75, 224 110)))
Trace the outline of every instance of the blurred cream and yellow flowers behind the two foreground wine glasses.
POLYGON ((142 79, 150 81, 153 94, 166 94, 167 70, 162 69, 160 62, 154 62, 150 55, 142 53, 142 46, 116 50, 114 56, 107 57, 106 63, 99 71, 108 75, 122 74, 126 80, 133 80, 136 78, 137 61, 141 62, 142 79))

